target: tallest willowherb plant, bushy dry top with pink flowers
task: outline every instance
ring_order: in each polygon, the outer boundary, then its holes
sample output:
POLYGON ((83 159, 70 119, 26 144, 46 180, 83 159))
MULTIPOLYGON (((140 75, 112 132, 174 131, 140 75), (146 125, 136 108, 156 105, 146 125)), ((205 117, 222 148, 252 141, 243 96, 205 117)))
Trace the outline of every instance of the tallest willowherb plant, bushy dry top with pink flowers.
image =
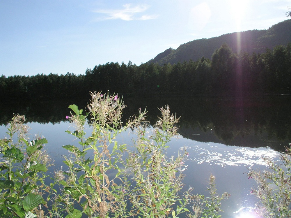
POLYGON ((59 201, 65 203, 66 217, 81 217, 83 212, 88 217, 108 217, 109 214, 126 217, 126 197, 120 177, 126 168, 122 158, 126 145, 118 144, 116 137, 143 122, 145 111, 139 111, 138 116, 123 124, 121 117, 125 105, 121 98, 109 92, 94 92, 91 95, 86 115, 77 106, 69 106, 73 112, 67 118, 75 130, 67 132, 79 139, 81 147, 63 146, 71 156, 65 157, 64 163, 69 170, 65 172, 67 180, 61 181, 64 188, 59 201), (84 126, 89 115, 92 132, 86 137, 84 126), (115 176, 109 178, 109 172, 114 172, 115 176), (76 204, 82 210, 75 209, 76 204))

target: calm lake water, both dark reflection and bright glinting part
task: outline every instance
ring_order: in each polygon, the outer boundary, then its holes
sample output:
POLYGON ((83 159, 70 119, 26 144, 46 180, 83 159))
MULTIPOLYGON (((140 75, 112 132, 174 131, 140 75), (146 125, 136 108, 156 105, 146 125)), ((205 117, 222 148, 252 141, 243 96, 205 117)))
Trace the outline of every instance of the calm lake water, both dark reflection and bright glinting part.
MULTIPOLYGON (((147 107, 150 124, 159 115, 158 108, 168 105, 172 113, 181 116, 178 138, 169 143, 168 154, 177 154, 182 146, 189 152, 185 170, 185 188, 194 187, 194 193, 208 195, 207 180, 213 174, 220 194, 228 192, 230 198, 222 202, 223 217, 242 217, 258 201, 250 194, 255 182, 248 179, 248 168, 265 168, 261 156, 268 155, 278 160, 280 151, 291 142, 291 97, 194 97, 171 96, 150 98, 124 98, 127 108, 123 117, 129 118, 139 108, 147 107)), ((56 168, 63 164, 67 152, 62 145, 77 145, 75 138, 65 130, 70 123, 68 105, 85 108, 82 101, 35 101, 2 103, 0 106, 0 137, 5 137, 4 124, 13 113, 25 115, 30 133, 39 134, 48 140, 45 149, 55 160, 56 168)), ((120 140, 132 144, 130 131, 120 140)), ((251 217, 249 215, 248 217, 251 217)))

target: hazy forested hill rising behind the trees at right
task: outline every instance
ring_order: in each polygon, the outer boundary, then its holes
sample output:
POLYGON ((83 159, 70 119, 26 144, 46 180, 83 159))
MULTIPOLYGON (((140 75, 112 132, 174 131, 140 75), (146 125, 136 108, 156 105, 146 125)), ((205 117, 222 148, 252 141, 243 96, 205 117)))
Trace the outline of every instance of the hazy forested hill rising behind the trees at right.
POLYGON ((147 63, 176 64, 178 61, 197 61, 201 57, 211 59, 213 52, 226 43, 233 52, 240 51, 252 54, 264 53, 266 48, 276 45, 287 45, 291 42, 291 19, 273 25, 267 30, 248 30, 224 34, 214 38, 197 39, 184 43, 177 49, 168 48, 147 63), (238 43, 240 41, 240 43, 238 43))

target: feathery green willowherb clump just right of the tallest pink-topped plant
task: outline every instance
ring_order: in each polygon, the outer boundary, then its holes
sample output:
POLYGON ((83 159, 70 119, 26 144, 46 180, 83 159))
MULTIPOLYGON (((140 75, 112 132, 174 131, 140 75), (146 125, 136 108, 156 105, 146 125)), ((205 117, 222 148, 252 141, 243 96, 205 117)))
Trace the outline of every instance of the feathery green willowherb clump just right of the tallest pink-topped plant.
POLYGON ((169 107, 160 108, 162 114, 153 128, 146 125, 136 130, 134 150, 127 157, 133 173, 130 190, 132 215, 141 217, 173 217, 189 211, 186 206, 191 196, 191 188, 179 193, 183 174, 186 170, 187 147, 181 147, 178 157, 167 157, 166 148, 173 136, 177 135, 179 118, 170 114, 169 107), (149 130, 150 132, 147 132, 149 130), (178 204, 177 204, 178 203, 178 204))

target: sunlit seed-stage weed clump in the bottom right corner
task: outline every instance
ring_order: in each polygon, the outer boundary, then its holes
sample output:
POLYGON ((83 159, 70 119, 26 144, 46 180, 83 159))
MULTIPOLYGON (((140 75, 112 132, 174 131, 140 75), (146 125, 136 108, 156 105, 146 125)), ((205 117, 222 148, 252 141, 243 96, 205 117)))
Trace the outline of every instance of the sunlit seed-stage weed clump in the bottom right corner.
POLYGON ((251 190, 260 199, 255 211, 260 217, 291 217, 291 149, 286 148, 278 163, 268 157, 262 159, 266 169, 262 172, 250 169, 248 173, 249 179, 258 184, 251 190))

